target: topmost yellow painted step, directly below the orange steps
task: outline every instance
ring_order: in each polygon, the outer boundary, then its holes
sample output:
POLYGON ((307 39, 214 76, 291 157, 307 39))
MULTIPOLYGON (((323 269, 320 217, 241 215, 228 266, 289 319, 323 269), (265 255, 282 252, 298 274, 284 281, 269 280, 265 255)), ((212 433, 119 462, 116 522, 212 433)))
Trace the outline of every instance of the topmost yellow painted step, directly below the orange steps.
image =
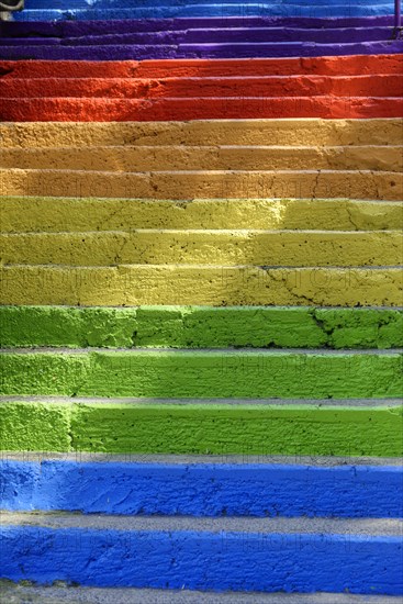
POLYGON ((20 232, 130 228, 379 231, 403 228, 403 203, 357 200, 69 199, 0 200, 0 230, 20 232))

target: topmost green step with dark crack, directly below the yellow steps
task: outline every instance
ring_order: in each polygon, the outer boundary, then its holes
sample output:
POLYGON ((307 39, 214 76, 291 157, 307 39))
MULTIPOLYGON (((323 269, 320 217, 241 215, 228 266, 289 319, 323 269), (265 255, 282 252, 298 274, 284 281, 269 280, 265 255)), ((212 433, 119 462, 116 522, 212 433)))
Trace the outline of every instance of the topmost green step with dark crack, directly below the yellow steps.
POLYGON ((0 306, 0 346, 399 348, 403 310, 0 306))

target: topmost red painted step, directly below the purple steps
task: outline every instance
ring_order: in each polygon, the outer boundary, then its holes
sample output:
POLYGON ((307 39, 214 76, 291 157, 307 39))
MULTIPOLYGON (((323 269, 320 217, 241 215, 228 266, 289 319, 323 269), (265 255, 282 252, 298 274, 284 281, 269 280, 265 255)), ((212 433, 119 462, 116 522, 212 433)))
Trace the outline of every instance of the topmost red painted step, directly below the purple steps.
POLYGON ((122 61, 0 60, 7 78, 167 78, 214 76, 357 76, 403 72, 403 55, 313 58, 165 59, 122 61))

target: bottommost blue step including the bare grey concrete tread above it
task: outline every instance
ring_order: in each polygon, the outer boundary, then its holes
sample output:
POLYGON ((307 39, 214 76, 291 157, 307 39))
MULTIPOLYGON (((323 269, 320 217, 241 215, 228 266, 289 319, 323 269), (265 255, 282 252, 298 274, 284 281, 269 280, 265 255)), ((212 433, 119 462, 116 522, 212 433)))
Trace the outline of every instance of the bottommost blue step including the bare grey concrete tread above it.
POLYGON ((402 593, 402 523, 395 519, 4 513, 2 522, 3 573, 14 581, 402 593))

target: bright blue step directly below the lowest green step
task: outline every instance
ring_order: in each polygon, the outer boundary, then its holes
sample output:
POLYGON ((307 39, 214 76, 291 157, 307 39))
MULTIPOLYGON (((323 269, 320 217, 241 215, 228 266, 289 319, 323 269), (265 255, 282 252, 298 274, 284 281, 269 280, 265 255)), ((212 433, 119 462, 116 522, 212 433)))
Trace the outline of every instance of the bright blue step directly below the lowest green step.
MULTIPOLYGON (((402 517, 399 460, 346 458, 213 462, 209 456, 2 454, 2 508, 85 514, 190 516, 402 517), (32 460, 27 460, 30 458, 32 460), (138 456, 137 456, 138 457, 138 456), (195 457, 195 459, 194 459, 195 457), (22 458, 22 460, 21 460, 22 458), (135 456, 133 456, 135 458, 135 456)), ((224 458, 224 456, 223 456, 224 458)))

